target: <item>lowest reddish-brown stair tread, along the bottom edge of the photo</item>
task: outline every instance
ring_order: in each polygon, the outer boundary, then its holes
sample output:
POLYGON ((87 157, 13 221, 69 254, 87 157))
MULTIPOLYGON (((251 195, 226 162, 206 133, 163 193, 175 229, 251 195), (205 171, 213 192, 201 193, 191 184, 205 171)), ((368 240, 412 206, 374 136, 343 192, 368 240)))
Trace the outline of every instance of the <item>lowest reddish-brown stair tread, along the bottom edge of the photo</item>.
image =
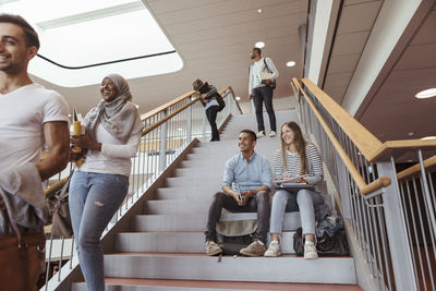
MULTIPOLYGON (((156 287, 185 287, 185 288, 214 288, 239 290, 293 290, 293 291, 359 291, 355 284, 316 284, 316 283, 279 283, 279 282, 234 282, 234 281, 207 281, 207 280, 171 280, 171 279, 142 279, 142 278, 105 278, 108 286, 156 286, 156 287)), ((77 282, 84 284, 84 281, 77 282)))

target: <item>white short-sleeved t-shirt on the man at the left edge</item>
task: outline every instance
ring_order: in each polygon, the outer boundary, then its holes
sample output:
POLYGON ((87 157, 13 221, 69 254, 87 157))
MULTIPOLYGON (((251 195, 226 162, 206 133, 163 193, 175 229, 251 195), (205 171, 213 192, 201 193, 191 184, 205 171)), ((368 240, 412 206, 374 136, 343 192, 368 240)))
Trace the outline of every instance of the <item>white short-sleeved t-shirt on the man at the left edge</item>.
POLYGON ((69 121, 69 106, 59 93, 29 84, 0 94, 0 171, 37 163, 44 147, 44 123, 69 121))

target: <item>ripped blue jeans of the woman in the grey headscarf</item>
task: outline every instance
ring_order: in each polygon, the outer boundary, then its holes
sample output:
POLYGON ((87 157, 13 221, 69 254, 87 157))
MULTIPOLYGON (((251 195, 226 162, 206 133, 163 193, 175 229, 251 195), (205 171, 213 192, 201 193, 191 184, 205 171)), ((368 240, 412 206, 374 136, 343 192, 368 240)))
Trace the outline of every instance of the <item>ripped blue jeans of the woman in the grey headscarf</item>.
POLYGON ((78 262, 89 291, 105 290, 101 233, 123 202, 129 178, 75 171, 70 183, 70 213, 78 262))

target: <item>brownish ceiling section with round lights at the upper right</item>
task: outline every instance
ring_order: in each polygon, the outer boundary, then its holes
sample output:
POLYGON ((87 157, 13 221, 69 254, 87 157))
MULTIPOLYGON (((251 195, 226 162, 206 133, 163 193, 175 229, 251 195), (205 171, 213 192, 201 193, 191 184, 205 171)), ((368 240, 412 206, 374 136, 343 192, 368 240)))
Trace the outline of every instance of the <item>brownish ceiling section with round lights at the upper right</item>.
POLYGON ((384 141, 434 136, 436 98, 414 97, 427 88, 436 88, 436 4, 360 121, 384 141))

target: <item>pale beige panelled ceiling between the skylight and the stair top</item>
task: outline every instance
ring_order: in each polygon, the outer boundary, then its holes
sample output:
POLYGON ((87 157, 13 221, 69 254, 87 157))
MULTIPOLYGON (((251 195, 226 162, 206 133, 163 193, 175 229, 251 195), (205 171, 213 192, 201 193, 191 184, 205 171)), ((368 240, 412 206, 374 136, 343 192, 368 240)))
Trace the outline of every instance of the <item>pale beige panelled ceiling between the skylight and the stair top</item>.
MULTIPOLYGON (((307 0, 143 0, 183 59, 181 71, 129 80, 142 113, 192 89, 199 77, 218 88, 231 85, 246 100, 249 52, 256 41, 266 44, 280 72, 275 97, 291 94, 289 81, 301 76, 298 28, 305 24, 307 0), (262 9, 262 13, 257 13, 262 9), (294 68, 287 68, 295 61, 294 68)), ((146 29, 146 27, 137 27, 146 29)), ((104 76, 101 76, 102 78, 104 76)), ((35 78, 60 92, 71 107, 87 112, 100 99, 98 85, 65 88, 35 78)))

